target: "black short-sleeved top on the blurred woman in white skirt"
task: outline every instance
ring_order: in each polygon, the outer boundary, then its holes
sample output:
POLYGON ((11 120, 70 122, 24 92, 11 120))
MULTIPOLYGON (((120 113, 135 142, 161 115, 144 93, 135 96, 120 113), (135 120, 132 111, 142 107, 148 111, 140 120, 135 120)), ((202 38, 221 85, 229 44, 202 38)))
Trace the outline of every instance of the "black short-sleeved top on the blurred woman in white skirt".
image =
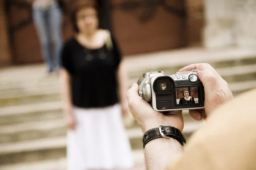
POLYGON ((99 49, 88 49, 75 38, 64 44, 61 63, 71 76, 73 105, 95 108, 113 105, 118 101, 116 71, 121 55, 115 41, 111 39, 111 49, 106 45, 99 49))

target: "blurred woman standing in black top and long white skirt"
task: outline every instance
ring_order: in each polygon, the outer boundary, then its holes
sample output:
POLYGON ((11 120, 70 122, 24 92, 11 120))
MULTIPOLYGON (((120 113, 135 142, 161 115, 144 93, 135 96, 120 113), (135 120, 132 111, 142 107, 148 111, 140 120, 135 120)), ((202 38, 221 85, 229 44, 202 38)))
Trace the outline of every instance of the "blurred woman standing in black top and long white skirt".
POLYGON ((128 104, 121 54, 109 31, 98 28, 94 0, 73 2, 70 14, 76 35, 61 55, 68 170, 131 168, 122 124, 128 104))

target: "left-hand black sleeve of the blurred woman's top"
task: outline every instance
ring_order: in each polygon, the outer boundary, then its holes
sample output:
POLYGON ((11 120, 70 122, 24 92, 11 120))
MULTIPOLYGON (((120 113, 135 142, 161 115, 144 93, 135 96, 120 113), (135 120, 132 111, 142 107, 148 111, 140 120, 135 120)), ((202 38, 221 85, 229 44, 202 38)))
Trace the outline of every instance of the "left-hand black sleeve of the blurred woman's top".
POLYGON ((72 62, 71 62, 71 52, 67 42, 64 44, 61 50, 61 67, 65 68, 70 74, 73 73, 72 62))

